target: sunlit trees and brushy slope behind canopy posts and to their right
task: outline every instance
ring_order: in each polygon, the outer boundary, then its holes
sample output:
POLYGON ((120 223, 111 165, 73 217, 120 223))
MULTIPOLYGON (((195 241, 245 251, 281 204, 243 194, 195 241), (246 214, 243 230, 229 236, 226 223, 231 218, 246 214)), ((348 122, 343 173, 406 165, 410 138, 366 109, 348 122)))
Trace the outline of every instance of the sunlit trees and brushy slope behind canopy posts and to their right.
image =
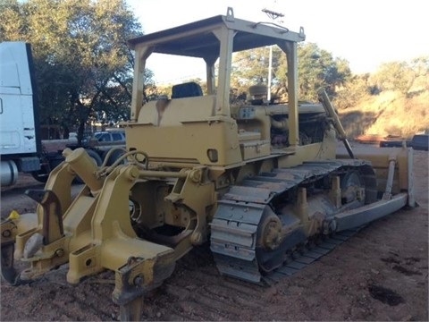
MULTIPOLYGON (((260 78, 266 83, 268 47, 237 53, 231 73, 234 97, 260 78)), ((299 45, 299 100, 315 101, 324 87, 352 137, 359 134, 412 135, 427 128, 429 56, 383 64, 373 74, 352 75, 347 61, 315 44, 299 45), (406 120, 406 121, 404 121, 406 120)), ((287 64, 273 47, 272 96, 287 100, 287 64)))

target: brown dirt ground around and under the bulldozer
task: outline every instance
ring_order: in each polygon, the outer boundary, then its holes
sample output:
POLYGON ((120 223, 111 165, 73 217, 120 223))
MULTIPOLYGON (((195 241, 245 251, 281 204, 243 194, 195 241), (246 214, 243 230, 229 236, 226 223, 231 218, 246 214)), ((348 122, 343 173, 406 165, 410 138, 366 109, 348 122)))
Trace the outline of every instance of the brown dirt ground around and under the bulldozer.
MULTIPOLYGON (((181 258, 164 284, 147 294, 143 320, 428 320, 428 154, 415 151, 418 208, 367 226, 329 254, 278 284, 225 278, 207 245, 181 258)), ((22 177, 2 188, 1 213, 34 210, 22 177)), ((76 187, 75 189, 79 189, 76 187)), ((17 287, 2 282, 2 321, 117 320, 114 274, 66 282, 67 267, 17 287)))

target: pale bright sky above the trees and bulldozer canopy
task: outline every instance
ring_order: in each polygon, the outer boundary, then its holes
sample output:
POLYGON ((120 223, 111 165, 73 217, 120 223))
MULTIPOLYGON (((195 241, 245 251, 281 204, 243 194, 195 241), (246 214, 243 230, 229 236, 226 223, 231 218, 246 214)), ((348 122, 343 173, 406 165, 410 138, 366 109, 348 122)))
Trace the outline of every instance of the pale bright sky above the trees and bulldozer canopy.
MULTIPOLYGON (((127 0, 149 34, 181 24, 226 14, 248 21, 273 21, 263 9, 284 14, 275 22, 292 31, 304 27, 306 42, 345 59, 354 73, 375 72, 383 64, 429 55, 429 23, 425 0, 127 0)), ((194 61, 167 64, 152 55, 147 68, 156 82, 177 75, 198 76, 194 61)))

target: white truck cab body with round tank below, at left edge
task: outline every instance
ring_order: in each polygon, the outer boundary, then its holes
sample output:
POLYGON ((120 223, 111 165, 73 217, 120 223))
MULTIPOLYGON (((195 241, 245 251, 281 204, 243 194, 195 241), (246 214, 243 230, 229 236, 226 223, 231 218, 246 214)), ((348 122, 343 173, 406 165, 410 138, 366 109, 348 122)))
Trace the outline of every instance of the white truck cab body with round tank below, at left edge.
POLYGON ((24 42, 0 43, 1 184, 12 185, 18 174, 40 170, 41 141, 33 92, 31 48, 24 42))

